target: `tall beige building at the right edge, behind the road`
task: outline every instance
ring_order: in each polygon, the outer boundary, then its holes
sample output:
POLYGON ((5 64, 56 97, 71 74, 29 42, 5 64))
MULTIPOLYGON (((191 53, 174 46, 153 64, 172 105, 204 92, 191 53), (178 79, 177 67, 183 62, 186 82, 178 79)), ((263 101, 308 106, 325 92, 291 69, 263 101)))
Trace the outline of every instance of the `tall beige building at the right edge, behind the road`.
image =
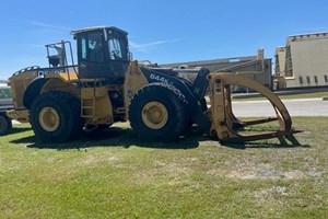
POLYGON ((289 36, 276 49, 274 88, 328 85, 328 33, 289 36))

